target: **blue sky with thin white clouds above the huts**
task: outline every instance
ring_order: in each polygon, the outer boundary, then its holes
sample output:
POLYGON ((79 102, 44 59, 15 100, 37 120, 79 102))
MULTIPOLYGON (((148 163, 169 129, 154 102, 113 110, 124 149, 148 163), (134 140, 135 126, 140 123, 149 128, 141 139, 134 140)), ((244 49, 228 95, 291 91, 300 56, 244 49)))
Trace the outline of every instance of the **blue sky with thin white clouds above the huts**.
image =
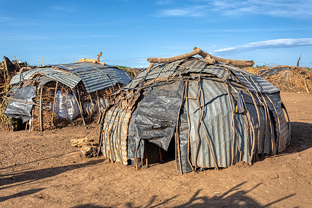
POLYGON ((196 46, 222 58, 312 67, 312 1, 0 0, 0 57, 146 67, 196 46))

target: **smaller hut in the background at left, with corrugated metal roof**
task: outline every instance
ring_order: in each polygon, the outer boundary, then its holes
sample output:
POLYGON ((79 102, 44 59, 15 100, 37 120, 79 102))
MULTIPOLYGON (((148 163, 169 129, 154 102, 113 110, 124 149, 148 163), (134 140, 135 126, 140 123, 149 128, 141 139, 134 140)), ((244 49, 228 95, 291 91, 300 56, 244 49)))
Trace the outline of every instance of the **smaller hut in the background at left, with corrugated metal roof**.
POLYGON ((84 124, 85 119, 90 121, 96 114, 100 121, 110 95, 130 80, 125 71, 98 63, 39 67, 12 78, 10 85, 14 87, 3 113, 27 122, 29 130, 67 125, 78 115, 84 124))

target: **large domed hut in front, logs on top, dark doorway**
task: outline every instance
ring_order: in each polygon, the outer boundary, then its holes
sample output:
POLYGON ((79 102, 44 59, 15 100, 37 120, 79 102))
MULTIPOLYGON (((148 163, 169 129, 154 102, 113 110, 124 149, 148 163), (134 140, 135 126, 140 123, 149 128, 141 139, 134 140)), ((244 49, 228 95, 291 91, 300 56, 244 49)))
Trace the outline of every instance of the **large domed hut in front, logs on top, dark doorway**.
POLYGON ((172 62, 154 59, 159 64, 116 93, 101 121, 105 157, 138 167, 172 151, 185 173, 252 164, 286 148, 290 122, 279 89, 196 50, 172 62))

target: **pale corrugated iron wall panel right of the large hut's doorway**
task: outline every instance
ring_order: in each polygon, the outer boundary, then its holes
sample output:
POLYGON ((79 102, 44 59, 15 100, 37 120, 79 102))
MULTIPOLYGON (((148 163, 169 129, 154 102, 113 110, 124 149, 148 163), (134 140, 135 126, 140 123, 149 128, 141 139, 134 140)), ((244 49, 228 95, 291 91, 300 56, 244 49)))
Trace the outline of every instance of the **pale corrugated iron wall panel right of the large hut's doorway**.
MULTIPOLYGON (((191 82, 187 89, 188 97, 196 97, 197 83, 191 82)), ((202 91, 205 94, 205 113, 202 116, 202 123, 205 131, 200 125, 198 138, 198 121, 200 121, 201 110, 198 101, 189 99, 189 116, 191 121, 191 162, 195 166, 196 150, 198 150, 197 165, 200 167, 215 167, 214 157, 218 167, 228 167, 232 163, 232 111, 230 111, 229 97, 224 83, 217 83, 211 80, 202 80, 202 91), (208 138, 206 138, 206 136, 208 138), (210 143, 211 150, 207 143, 210 143), (211 154, 212 151, 212 154, 211 154), (213 157, 214 155, 214 157, 213 157)), ((241 121, 243 123, 243 121, 241 121)), ((242 125, 239 125, 241 128, 242 125)), ((244 131, 241 130, 241 133, 244 131)), ((241 135, 241 138, 244 138, 241 135)), ((237 144, 234 144, 235 146, 237 144)), ((237 147, 234 148, 234 162, 238 159, 237 147)))

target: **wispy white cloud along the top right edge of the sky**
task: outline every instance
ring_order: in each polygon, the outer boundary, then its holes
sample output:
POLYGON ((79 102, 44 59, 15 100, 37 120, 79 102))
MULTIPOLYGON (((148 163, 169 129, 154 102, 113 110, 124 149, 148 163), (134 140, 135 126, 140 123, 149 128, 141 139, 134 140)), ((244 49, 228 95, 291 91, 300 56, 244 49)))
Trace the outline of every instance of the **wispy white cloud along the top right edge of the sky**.
POLYGON ((197 0, 177 8, 159 10, 158 17, 208 17, 211 12, 226 16, 266 15, 272 17, 312 17, 311 0, 197 0))

